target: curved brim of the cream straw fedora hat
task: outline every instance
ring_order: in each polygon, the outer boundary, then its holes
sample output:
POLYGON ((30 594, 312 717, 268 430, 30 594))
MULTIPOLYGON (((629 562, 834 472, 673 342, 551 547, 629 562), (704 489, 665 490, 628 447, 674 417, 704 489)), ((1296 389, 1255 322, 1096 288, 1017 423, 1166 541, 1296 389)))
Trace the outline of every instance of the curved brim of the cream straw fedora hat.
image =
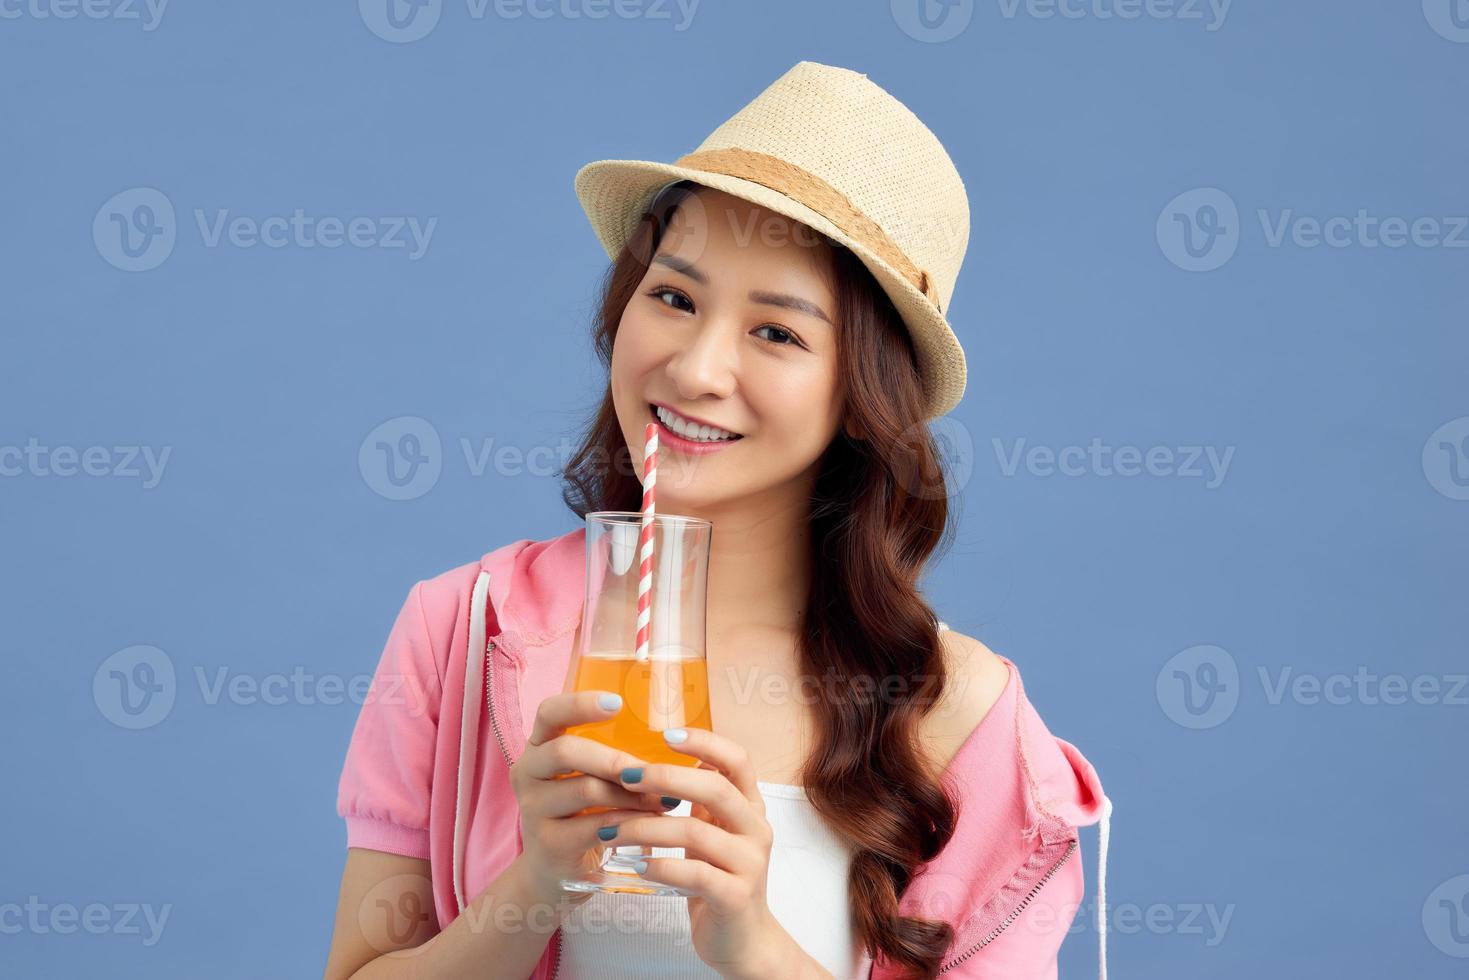
POLYGON ((596 160, 576 173, 576 197, 610 259, 617 259, 652 195, 671 181, 695 181, 759 204, 839 241, 862 262, 893 301, 912 336, 928 417, 948 414, 964 397, 968 369, 964 348, 945 316, 902 273, 862 242, 849 238, 818 212, 780 191, 724 173, 652 160, 596 160))

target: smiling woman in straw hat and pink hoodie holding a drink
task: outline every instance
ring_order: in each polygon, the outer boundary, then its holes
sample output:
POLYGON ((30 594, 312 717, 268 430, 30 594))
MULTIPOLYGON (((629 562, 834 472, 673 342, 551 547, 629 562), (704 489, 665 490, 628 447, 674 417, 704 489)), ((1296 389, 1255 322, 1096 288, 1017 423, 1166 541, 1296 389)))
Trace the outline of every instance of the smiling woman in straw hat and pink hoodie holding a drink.
POLYGON ((564 735, 620 708, 560 693, 583 529, 417 583, 342 771, 328 976, 1053 977, 1106 799, 917 588, 952 530, 925 422, 965 381, 948 154, 865 75, 801 62, 676 165, 576 184, 614 263, 564 498, 639 510, 660 422, 660 511, 715 526, 717 732, 665 733, 698 767, 564 735), (643 873, 692 896, 563 893, 607 840, 685 848, 643 873))

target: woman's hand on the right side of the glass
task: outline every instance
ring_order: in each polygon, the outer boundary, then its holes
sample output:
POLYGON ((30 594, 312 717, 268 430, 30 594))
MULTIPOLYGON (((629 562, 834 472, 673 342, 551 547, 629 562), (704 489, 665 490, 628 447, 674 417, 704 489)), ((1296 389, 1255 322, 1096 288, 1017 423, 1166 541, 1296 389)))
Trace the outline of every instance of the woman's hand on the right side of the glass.
POLYGON ((765 799, 745 746, 707 729, 683 730, 689 738, 668 746, 699 758, 698 767, 649 764, 639 782, 624 779, 623 786, 692 801, 693 815, 623 821, 613 846, 683 848, 683 858, 648 858, 643 877, 692 892, 689 924, 699 959, 723 977, 759 976, 771 951, 789 940, 765 905, 774 840, 765 799))

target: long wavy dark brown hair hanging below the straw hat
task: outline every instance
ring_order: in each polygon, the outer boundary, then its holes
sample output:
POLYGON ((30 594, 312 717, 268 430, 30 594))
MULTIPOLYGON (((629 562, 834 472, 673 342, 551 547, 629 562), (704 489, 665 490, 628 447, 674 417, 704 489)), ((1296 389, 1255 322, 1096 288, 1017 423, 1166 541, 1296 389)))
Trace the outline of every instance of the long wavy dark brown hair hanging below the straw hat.
MULTIPOLYGON (((638 219, 601 287, 592 339, 611 372, 613 344, 679 201, 698 188, 664 188, 638 219)), ((802 226, 804 232, 818 235, 802 226)), ((918 591, 930 555, 950 544, 942 460, 924 420, 912 342, 861 260, 826 238, 837 297, 837 357, 846 426, 823 453, 811 500, 811 577, 798 641, 802 677, 842 685, 814 698, 817 745, 802 767, 806 796, 853 848, 848 902, 874 959, 914 977, 937 974, 953 942, 945 921, 900 915, 917 871, 953 836, 958 799, 921 751, 918 723, 945 685, 939 620, 918 591), (871 679, 862 696, 851 682, 871 679)), ((563 478, 577 517, 642 507, 642 483, 613 407, 611 383, 563 478)))

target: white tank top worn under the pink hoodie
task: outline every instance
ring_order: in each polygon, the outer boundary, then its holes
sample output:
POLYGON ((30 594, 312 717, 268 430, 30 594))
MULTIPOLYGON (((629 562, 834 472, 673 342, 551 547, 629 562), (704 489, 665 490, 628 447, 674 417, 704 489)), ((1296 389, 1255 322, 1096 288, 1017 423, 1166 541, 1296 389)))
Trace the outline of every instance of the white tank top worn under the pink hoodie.
MULTIPOLYGON (((852 933, 846 883, 852 852, 821 821, 801 786, 759 783, 774 835, 765 904, 776 921, 837 980, 867 980, 873 965, 852 933)), ((687 817, 687 799, 668 813, 687 817)), ((683 848, 652 849, 655 858, 683 848)), ((557 980, 718 980, 693 952, 689 899, 596 892, 561 923, 557 980)))

